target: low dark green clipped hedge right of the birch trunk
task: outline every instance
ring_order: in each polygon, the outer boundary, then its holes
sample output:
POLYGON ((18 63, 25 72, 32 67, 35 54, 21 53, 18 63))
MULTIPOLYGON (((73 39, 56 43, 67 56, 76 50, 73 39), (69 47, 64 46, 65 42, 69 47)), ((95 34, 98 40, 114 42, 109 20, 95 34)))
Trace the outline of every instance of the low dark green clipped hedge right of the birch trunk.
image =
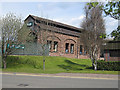
POLYGON ((98 70, 120 71, 120 61, 97 61, 98 70))

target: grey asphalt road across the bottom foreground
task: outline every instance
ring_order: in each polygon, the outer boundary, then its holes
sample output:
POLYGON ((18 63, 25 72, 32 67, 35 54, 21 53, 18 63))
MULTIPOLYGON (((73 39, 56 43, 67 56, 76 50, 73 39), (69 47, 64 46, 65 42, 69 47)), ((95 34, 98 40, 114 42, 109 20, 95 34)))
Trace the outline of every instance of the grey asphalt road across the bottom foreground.
POLYGON ((118 80, 2 75, 3 88, 118 88, 118 80))

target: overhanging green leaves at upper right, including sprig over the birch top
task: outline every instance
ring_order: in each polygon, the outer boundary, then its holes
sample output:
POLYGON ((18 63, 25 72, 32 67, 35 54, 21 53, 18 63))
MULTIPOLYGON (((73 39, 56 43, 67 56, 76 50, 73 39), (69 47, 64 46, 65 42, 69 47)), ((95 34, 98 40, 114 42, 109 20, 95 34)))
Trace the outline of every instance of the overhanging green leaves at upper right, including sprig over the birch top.
MULTIPOLYGON (((87 5, 89 5, 89 9, 91 9, 92 7, 96 7, 98 5, 98 2, 90 2, 90 3, 87 3, 87 5)), ((116 20, 120 20, 120 1, 119 0, 108 1, 108 3, 105 4, 104 6, 100 5, 99 8, 103 10, 106 16, 110 16, 116 20)), ((110 34, 111 37, 114 37, 114 40, 120 40, 119 27, 120 26, 118 26, 117 29, 113 30, 110 34)))

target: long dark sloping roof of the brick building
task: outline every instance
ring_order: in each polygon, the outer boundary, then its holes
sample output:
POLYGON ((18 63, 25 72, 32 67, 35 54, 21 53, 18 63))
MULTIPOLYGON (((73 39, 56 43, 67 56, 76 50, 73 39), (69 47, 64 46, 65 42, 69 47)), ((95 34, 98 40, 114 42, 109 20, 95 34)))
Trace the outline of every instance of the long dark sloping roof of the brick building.
POLYGON ((31 17, 32 19, 34 19, 35 20, 35 24, 38 25, 38 26, 40 26, 43 29, 49 28, 49 29, 51 29, 51 30, 53 30, 55 32, 69 34, 69 35, 78 36, 78 37, 79 37, 79 35, 80 35, 81 31, 82 31, 81 28, 77 28, 77 27, 74 27, 74 26, 71 26, 71 25, 63 24, 63 23, 60 23, 60 22, 56 22, 56 21, 53 21, 53 20, 41 18, 41 17, 34 16, 34 15, 29 15, 25 19, 25 21, 29 17, 31 17), (38 22, 44 22, 44 23, 47 22, 47 25, 38 23, 36 21, 38 21, 38 22), (49 27, 48 27, 48 24, 52 24, 53 26, 49 25, 49 27))

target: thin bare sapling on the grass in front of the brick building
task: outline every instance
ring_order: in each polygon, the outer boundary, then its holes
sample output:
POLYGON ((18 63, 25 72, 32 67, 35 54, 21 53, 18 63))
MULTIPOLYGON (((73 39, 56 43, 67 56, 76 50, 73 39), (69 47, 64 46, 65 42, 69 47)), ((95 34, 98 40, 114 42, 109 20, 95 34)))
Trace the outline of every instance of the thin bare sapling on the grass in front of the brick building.
MULTIPOLYGON (((37 29, 37 33, 40 39, 40 45, 42 47, 42 50, 39 53, 42 53, 43 56, 43 70, 45 70, 45 62, 46 62, 46 56, 49 52, 49 45, 48 45, 48 36, 54 37, 54 31, 51 30, 50 24, 52 22, 48 19, 44 19, 45 24, 41 24, 40 28, 37 29)), ((52 38, 53 40, 54 38, 52 38)))

